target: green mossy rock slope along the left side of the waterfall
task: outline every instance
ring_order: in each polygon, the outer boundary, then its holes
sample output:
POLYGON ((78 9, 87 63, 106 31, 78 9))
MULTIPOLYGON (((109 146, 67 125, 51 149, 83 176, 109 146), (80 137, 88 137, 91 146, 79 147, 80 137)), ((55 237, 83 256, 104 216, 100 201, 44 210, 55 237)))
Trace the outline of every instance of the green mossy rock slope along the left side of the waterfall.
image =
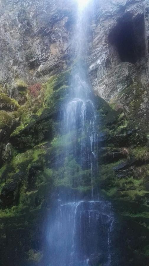
MULTIPOLYGON (((0 170, 2 265, 9 265, 12 257, 12 266, 37 265, 40 262, 43 256, 41 227, 43 217, 50 209, 50 192, 55 186, 69 186, 65 177, 63 181, 57 178, 62 167, 54 171, 49 164, 49 160, 53 160, 55 130, 60 127, 57 114, 69 94, 68 76, 69 72, 49 78, 41 86, 38 98, 30 95, 27 85, 18 81, 15 86, 27 95, 23 106, 1 94, 1 97, 6 97, 0 114, 1 132, 10 128, 3 145, 6 150, 5 143, 10 142, 9 156, 6 153, 3 156, 0 170), (9 102, 12 107, 8 106, 9 102)), ((67 164, 74 165, 71 162, 67 164)))

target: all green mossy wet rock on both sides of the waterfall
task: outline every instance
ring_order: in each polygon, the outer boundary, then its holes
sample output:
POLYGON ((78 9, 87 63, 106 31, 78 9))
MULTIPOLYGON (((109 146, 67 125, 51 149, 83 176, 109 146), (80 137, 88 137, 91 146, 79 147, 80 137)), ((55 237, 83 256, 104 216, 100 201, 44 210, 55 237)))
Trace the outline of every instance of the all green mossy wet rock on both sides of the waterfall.
MULTIPOLYGON (((61 127, 59 110, 63 110, 64 103, 69 100, 69 78, 69 71, 50 77, 41 85, 37 98, 28 95, 23 106, 16 104, 17 110, 4 108, 0 111, 2 132, 9 129, 6 140, 3 134, 2 140, 5 144, 10 142, 11 150, 3 152, 5 158, 3 155, 0 169, 2 265, 10 265, 12 257, 12 266, 39 265, 42 261, 41 225, 53 204, 55 189, 63 188, 64 193, 66 189, 73 191, 74 197, 91 197, 91 170, 82 169, 78 161, 79 145, 86 141, 86 136, 78 134, 76 140, 72 140, 71 132, 58 134, 61 127), (75 156, 64 157, 64 150, 70 145, 75 147, 75 156)), ((123 92, 125 97, 130 90, 132 87, 123 92)), ((136 98, 133 103, 128 100, 129 111, 99 97, 94 98, 98 167, 93 185, 95 191, 112 202, 119 220, 117 228, 125 235, 124 252, 120 251, 121 265, 140 266, 142 261, 147 266, 149 138, 146 120, 138 123, 135 113, 141 108, 141 102, 136 103, 136 107, 135 101, 138 95, 144 95, 144 90, 134 90, 136 98)))

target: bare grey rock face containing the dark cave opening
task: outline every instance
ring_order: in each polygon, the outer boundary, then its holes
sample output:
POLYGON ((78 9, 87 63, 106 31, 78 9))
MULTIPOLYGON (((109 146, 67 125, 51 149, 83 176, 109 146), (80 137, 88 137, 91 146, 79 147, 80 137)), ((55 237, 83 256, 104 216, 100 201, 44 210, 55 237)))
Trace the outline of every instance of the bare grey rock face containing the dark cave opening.
POLYGON ((122 91, 148 86, 148 1, 96 1, 89 55, 92 85, 105 100, 125 103, 122 91))

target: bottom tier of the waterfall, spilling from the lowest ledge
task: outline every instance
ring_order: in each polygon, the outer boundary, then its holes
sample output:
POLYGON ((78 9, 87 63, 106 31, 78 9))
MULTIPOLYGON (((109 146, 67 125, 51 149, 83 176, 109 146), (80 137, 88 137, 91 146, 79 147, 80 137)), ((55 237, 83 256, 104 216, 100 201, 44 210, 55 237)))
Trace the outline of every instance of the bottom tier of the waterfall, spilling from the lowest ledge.
POLYGON ((60 204, 50 220, 50 265, 87 266, 96 265, 96 261, 105 262, 105 266, 111 265, 113 223, 109 202, 60 204))

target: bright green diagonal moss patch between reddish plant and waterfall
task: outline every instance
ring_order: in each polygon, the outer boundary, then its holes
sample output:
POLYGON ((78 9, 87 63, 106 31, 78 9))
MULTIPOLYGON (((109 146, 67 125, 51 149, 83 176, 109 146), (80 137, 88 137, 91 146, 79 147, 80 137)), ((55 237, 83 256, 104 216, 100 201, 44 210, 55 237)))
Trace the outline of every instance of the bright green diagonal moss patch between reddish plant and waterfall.
MULTIPOLYGON (((39 96, 35 100, 34 103, 32 102, 32 98, 30 97, 30 95, 27 95, 27 102, 24 104, 24 106, 20 106, 18 108, 19 116, 21 117, 21 124, 12 133, 12 137, 18 135, 27 126, 30 126, 30 123, 35 121, 32 116, 32 113, 35 113, 35 109, 36 109, 36 114, 37 114, 36 119, 38 118, 38 116, 44 116, 46 112, 51 113, 51 114, 54 112, 58 112, 60 105, 63 103, 66 96, 68 95, 68 86, 66 85, 68 83, 68 80, 66 79, 67 75, 68 73, 67 74, 61 73, 59 75, 50 77, 48 81, 42 85, 39 96)), ((17 80, 16 84, 24 88, 26 87, 26 85, 24 85, 24 83, 20 80, 17 80)), ((41 122, 41 123, 46 124, 46 121, 41 122)), ((44 126, 44 128, 45 127, 46 126, 44 126)), ((43 130, 40 131, 41 137, 38 136, 39 142, 42 141, 41 138, 43 136, 42 134, 43 130)), ((28 134, 27 142, 29 142, 30 145, 31 145, 32 139, 34 139, 34 136, 32 136, 32 134, 33 134, 33 130, 31 134, 30 133, 28 134)), ((21 141, 24 142, 25 139, 22 138, 21 141)))

